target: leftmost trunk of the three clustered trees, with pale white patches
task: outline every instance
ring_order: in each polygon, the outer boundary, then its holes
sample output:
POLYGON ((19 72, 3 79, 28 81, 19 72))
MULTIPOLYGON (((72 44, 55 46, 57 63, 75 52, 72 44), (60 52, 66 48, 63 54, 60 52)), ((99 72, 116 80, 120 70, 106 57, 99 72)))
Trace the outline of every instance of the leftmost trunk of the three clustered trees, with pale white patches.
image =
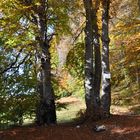
POLYGON ((93 32, 91 21, 91 0, 83 0, 86 11, 86 27, 85 27, 85 101, 86 115, 91 116, 93 98, 93 32))

